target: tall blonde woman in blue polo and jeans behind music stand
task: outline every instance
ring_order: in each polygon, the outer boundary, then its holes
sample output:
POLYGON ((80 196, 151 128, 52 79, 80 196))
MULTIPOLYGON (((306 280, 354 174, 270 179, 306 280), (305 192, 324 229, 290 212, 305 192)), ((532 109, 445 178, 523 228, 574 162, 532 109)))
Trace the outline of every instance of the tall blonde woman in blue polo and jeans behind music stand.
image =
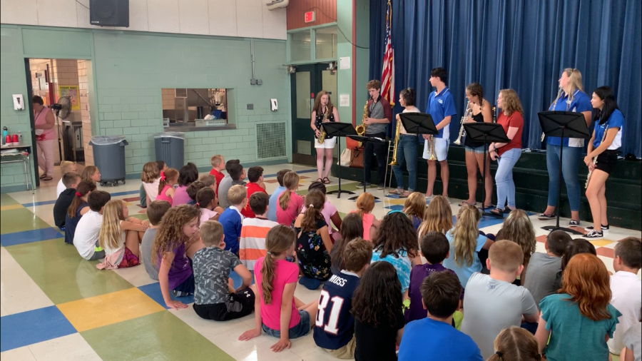
MULTIPOLYGON (((549 107, 549 111, 575 111, 584 114, 586 126, 591 125, 591 101, 582 87, 582 74, 574 68, 566 68, 559 78, 559 93, 555 101, 549 107)), ((546 139, 546 168, 549 169, 549 200, 544 213, 539 219, 547 220, 555 218, 557 207, 557 191, 559 180, 559 153, 564 147, 564 159, 562 175, 566 183, 566 194, 569 196, 571 205, 571 220, 569 225, 579 225, 579 205, 581 188, 579 184, 579 161, 584 139, 564 138, 564 144, 560 137, 548 137, 546 139)))

